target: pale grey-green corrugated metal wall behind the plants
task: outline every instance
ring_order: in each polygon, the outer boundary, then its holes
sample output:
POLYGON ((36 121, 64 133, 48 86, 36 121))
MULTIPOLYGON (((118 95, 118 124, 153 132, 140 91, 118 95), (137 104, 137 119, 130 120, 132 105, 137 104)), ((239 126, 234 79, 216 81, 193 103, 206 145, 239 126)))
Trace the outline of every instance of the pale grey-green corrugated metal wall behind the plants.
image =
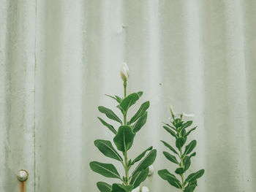
MULTIPOLYGON (((104 94, 122 93, 123 61, 128 90, 151 101, 131 153, 154 145, 154 169, 174 168, 159 142, 170 140, 161 122, 172 103, 199 126, 190 138, 198 143, 191 171, 206 169, 197 191, 256 188, 254 0, 0 5, 0 191, 19 191, 19 169, 29 172, 28 192, 97 191, 106 179, 89 169, 104 159, 93 142, 112 138, 97 106, 115 107, 104 94)), ((144 185, 176 191, 157 174, 144 185)))

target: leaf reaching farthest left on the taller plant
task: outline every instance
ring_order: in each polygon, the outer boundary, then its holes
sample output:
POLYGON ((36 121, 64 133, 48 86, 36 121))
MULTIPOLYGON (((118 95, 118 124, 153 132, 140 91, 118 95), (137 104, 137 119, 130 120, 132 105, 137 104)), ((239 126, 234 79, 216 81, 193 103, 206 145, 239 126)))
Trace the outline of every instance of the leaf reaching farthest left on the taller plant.
POLYGON ((120 179, 120 174, 118 174, 116 167, 113 166, 113 164, 102 164, 97 161, 92 161, 90 167, 92 171, 97 172, 104 177, 120 179))

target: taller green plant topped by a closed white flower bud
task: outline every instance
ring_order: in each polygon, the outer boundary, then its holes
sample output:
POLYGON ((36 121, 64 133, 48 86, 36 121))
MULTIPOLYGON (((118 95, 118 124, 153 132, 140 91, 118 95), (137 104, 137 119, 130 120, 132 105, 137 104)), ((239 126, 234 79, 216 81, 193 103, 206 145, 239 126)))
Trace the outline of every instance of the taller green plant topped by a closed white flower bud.
POLYGON ((121 183, 113 183, 112 185, 105 182, 98 182, 97 187, 101 192, 129 192, 132 191, 132 189, 137 188, 140 183, 146 180, 146 177, 148 176, 148 166, 154 163, 157 155, 157 150, 153 149, 153 147, 148 147, 135 159, 132 160, 128 158, 128 150, 132 147, 136 133, 140 131, 140 128, 142 128, 146 123, 147 110, 149 107, 149 101, 144 102, 141 104, 138 112, 136 112, 132 118, 127 120, 129 107, 132 107, 132 105, 135 104, 143 94, 143 92, 140 91, 138 93, 131 93, 127 96, 128 77, 129 69, 127 65, 124 64, 121 70, 121 78, 124 80, 124 98, 119 96, 110 96, 110 98, 117 101, 118 105, 116 107, 121 111, 123 120, 118 118, 118 115, 116 115, 112 110, 103 106, 98 107, 99 112, 105 114, 107 118, 120 123, 120 126, 116 131, 114 126, 105 122, 102 118, 99 118, 101 123, 113 132, 113 142, 116 145, 117 150, 121 151, 121 155, 108 140, 97 139, 94 141, 94 145, 108 158, 113 158, 114 160, 119 161, 124 168, 124 176, 121 177, 113 164, 103 164, 97 161, 92 161, 90 163, 92 171, 102 174, 102 176, 116 178, 121 181, 121 183), (146 155, 146 153, 148 154, 146 155), (144 158, 145 155, 146 157, 144 158), (129 174, 129 170, 135 164, 138 164, 138 166, 133 170, 132 174, 129 174))

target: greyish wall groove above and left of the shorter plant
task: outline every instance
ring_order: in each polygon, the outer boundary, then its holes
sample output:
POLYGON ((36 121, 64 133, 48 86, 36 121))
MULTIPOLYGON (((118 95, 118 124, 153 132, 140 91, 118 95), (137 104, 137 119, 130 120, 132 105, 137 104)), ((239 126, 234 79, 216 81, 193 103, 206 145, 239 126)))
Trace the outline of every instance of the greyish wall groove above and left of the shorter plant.
MULTIPOLYGON (((160 64, 156 64, 160 70, 161 81, 159 88, 161 90, 159 102, 159 125, 155 127, 159 131, 158 140, 164 140, 170 145, 175 146, 173 137, 162 128, 162 122, 170 123, 170 104, 176 112, 187 112, 187 97, 184 91, 187 91, 185 82, 185 72, 187 61, 185 57, 186 50, 186 31, 185 31, 185 12, 183 1, 159 1, 159 50, 160 64), (181 108, 185 107, 185 108, 181 108)), ((153 119, 154 117, 152 117, 153 119)), ((154 191, 178 191, 169 183, 162 180, 157 170, 167 169, 172 174, 177 168, 175 164, 170 163, 162 154, 167 148, 159 143, 157 153, 156 172, 154 175, 154 191)), ((180 177, 178 177, 180 179, 180 177)))

